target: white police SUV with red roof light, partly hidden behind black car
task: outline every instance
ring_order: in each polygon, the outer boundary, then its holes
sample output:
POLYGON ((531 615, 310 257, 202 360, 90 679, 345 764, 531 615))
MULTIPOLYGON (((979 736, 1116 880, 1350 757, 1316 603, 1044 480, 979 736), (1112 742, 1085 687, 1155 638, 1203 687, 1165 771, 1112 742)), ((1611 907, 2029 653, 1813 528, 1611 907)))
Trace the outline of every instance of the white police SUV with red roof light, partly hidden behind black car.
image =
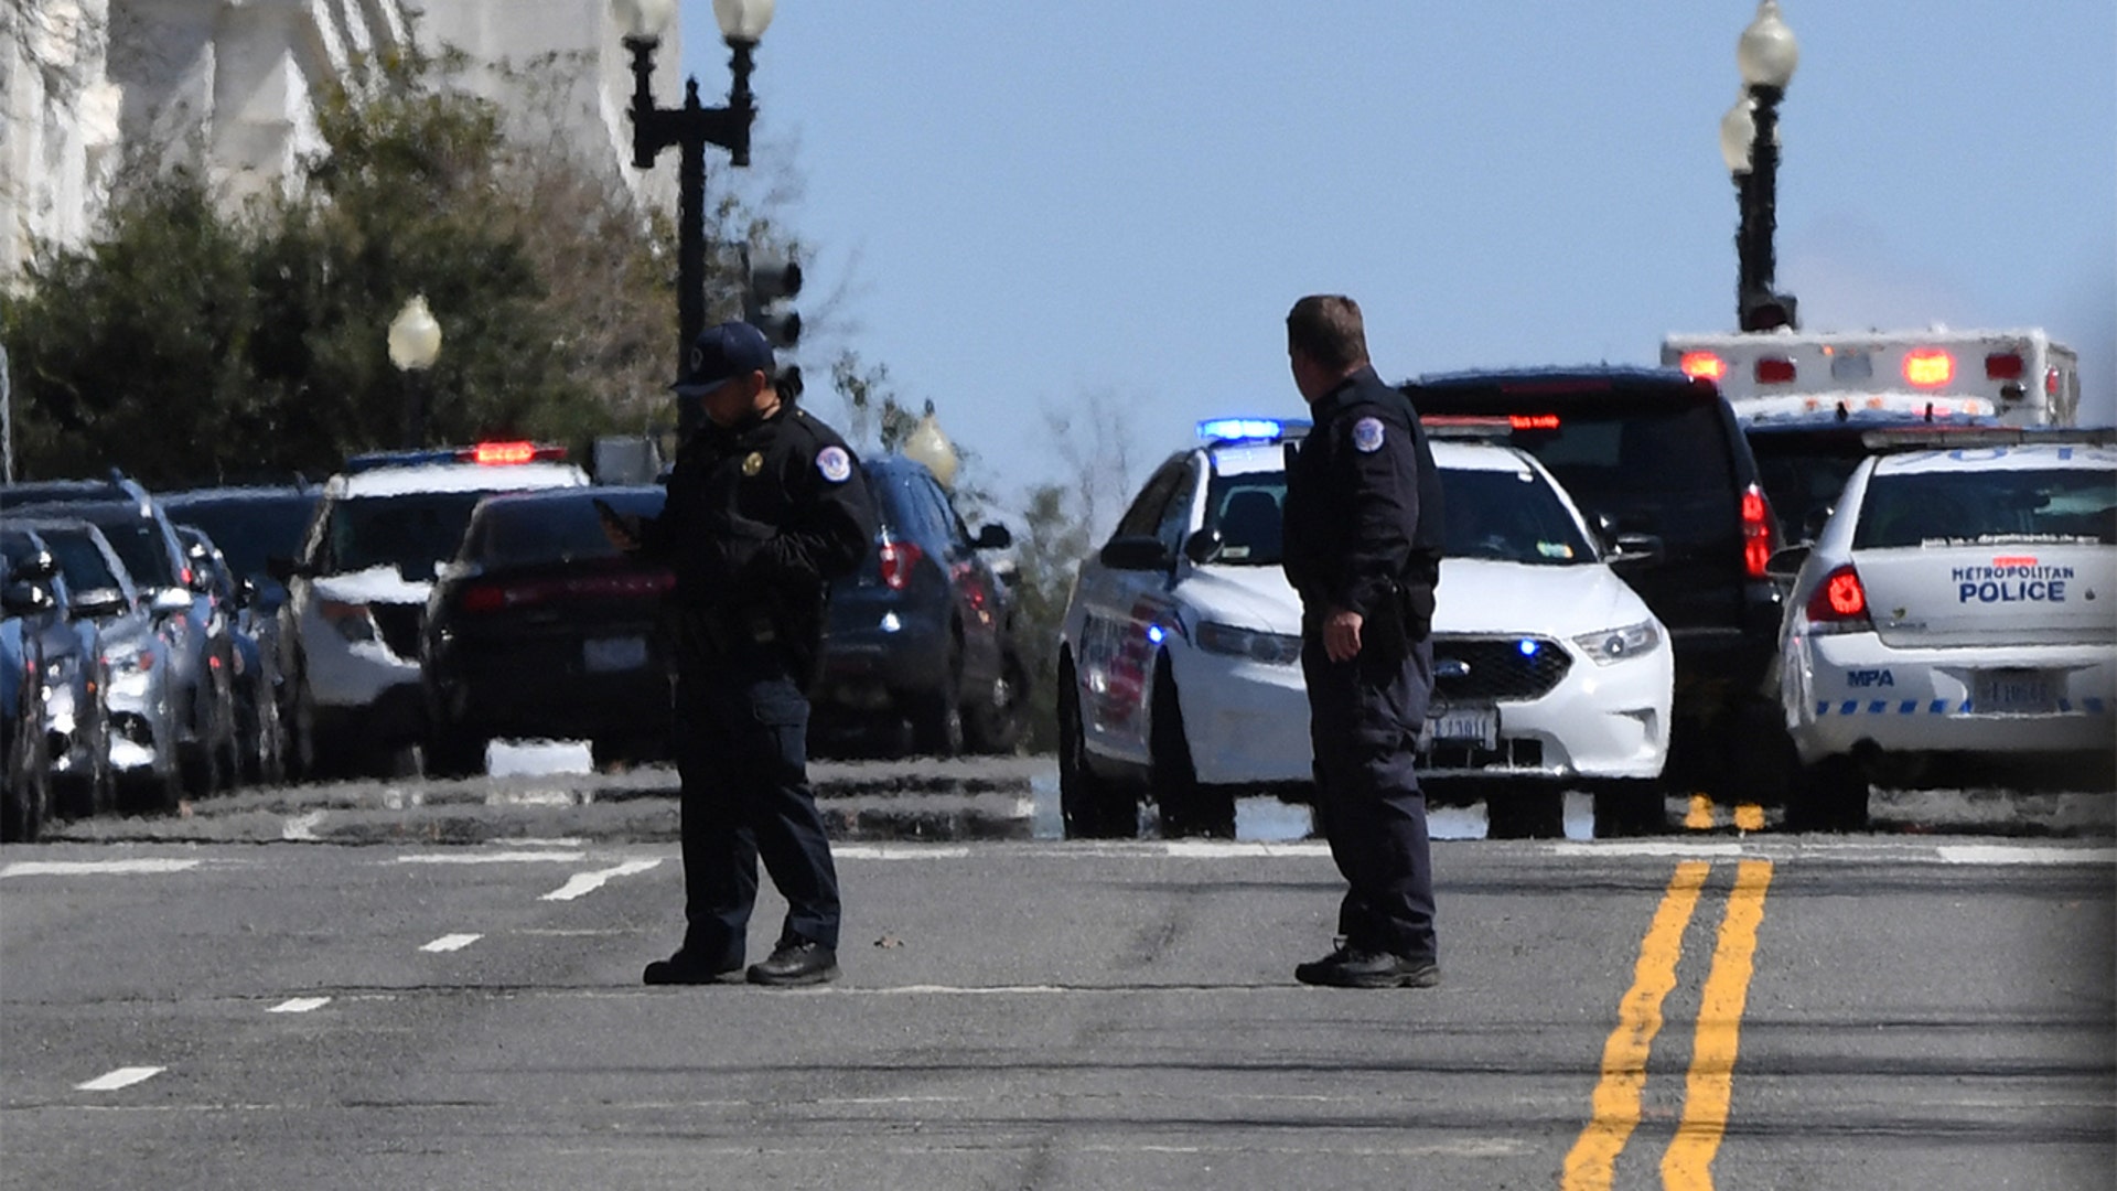
POLYGON ((563 456, 531 443, 392 451, 347 460, 324 483, 279 608, 301 769, 362 769, 421 742, 419 632, 434 572, 485 496, 586 485, 563 456))

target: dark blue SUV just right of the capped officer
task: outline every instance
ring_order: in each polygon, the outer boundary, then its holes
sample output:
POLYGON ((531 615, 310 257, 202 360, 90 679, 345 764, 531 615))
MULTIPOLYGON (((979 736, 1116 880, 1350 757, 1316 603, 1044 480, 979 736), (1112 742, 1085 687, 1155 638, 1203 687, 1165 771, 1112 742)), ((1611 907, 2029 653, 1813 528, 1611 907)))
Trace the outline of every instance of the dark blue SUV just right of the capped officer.
POLYGON ((1014 598, 934 473, 902 456, 864 462, 881 530, 830 593, 811 737, 885 752, 1010 752, 1029 716, 1014 598), (906 740, 908 735, 908 740, 906 740))

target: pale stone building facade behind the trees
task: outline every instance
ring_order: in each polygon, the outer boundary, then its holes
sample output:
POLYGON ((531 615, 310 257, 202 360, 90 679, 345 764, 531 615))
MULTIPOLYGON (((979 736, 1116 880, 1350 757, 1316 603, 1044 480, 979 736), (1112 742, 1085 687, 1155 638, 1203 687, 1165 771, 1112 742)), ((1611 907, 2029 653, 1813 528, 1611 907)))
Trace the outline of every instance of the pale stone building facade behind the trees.
MULTIPOLYGON (((129 148, 199 159, 231 197, 284 184, 322 148, 322 81, 406 42, 464 49, 483 64, 466 85, 523 131, 608 159, 650 201, 673 195, 669 172, 631 170, 631 59, 610 0, 0 0, 0 280, 36 239, 95 229, 129 148)), ((663 102, 680 61, 671 30, 663 102)))

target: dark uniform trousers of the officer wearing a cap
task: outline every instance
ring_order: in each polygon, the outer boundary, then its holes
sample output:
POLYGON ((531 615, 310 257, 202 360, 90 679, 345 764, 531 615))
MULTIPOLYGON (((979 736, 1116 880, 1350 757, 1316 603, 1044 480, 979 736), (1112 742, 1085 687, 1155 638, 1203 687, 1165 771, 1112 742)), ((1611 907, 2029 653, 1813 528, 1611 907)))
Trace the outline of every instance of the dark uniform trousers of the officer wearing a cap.
POLYGON ((809 699, 775 665, 696 661, 675 689, 684 780, 684 952, 743 962, 758 860, 788 899, 781 941, 838 947, 838 871, 809 786, 809 699))

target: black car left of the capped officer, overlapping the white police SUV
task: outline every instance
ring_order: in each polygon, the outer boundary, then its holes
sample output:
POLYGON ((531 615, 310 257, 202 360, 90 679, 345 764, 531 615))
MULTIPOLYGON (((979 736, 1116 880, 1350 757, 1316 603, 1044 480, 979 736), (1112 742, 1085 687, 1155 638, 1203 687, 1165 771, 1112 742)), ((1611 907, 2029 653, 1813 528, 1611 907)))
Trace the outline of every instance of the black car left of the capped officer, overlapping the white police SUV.
POLYGON ((426 771, 485 769, 506 737, 589 740, 597 765, 669 752, 658 632, 675 572, 618 553, 595 500, 654 517, 661 487, 489 496, 434 579, 419 642, 426 771))

